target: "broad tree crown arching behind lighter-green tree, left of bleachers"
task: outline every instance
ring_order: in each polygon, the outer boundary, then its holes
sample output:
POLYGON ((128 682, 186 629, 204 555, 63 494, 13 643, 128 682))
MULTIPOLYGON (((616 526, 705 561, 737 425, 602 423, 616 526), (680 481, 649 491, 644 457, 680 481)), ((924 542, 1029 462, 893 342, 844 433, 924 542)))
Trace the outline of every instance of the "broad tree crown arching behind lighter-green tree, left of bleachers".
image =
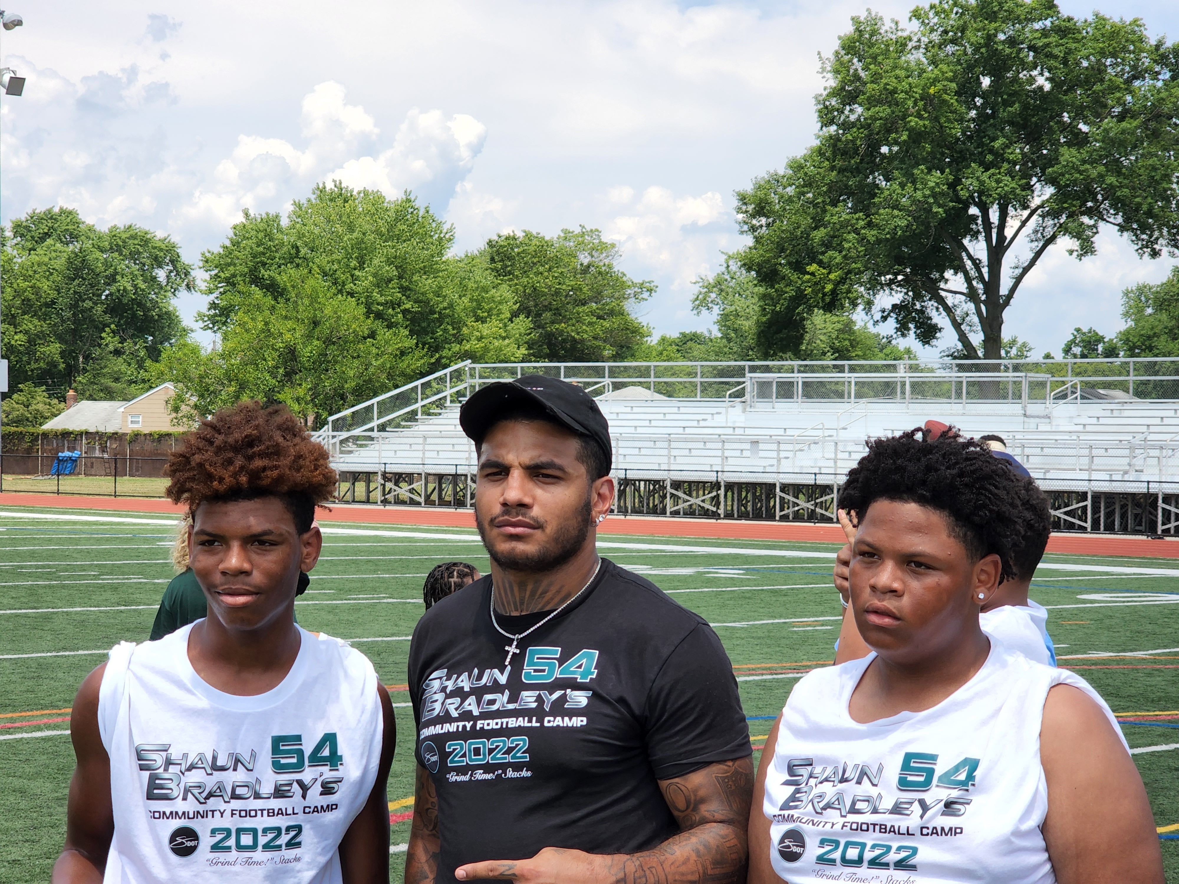
MULTIPOLYGON (((242 304, 259 296, 281 304, 303 291, 289 285, 296 272, 354 301, 377 326, 408 335, 428 355, 427 371, 466 358, 522 358, 531 328, 515 316, 515 297, 486 259, 450 256, 453 243, 453 229, 408 192, 389 199, 318 184, 285 222, 246 211, 218 249, 202 255, 210 299, 199 318, 225 334, 242 304)), ((411 364, 422 363, 414 356, 411 364)))

